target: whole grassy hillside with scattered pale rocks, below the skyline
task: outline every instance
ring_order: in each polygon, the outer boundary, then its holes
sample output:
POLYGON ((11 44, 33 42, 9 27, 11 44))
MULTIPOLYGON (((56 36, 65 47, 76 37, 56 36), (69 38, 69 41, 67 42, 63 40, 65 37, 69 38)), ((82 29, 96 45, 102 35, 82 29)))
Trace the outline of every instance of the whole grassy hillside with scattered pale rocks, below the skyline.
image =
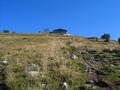
POLYGON ((120 90, 119 69, 117 42, 0 34, 0 90, 120 90))

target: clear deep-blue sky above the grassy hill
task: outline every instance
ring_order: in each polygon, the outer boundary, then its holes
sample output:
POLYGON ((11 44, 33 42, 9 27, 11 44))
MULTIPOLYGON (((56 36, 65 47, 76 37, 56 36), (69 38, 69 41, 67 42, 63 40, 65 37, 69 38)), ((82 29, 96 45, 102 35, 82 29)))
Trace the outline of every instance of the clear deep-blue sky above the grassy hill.
POLYGON ((65 28, 79 36, 120 37, 120 0, 0 0, 0 30, 65 28))

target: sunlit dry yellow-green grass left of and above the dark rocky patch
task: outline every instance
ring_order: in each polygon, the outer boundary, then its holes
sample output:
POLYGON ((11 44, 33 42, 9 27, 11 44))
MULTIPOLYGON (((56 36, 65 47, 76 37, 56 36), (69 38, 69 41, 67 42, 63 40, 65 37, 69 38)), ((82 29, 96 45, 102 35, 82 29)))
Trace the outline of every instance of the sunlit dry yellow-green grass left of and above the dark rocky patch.
POLYGON ((120 49, 116 42, 104 43, 73 36, 0 34, 0 60, 7 61, 4 80, 11 90, 79 90, 85 84, 81 58, 72 60, 67 49, 106 47, 120 49), (28 65, 36 72, 28 72, 28 65), (31 75, 32 73, 32 75, 31 75), (33 74, 34 73, 34 74, 33 74))

